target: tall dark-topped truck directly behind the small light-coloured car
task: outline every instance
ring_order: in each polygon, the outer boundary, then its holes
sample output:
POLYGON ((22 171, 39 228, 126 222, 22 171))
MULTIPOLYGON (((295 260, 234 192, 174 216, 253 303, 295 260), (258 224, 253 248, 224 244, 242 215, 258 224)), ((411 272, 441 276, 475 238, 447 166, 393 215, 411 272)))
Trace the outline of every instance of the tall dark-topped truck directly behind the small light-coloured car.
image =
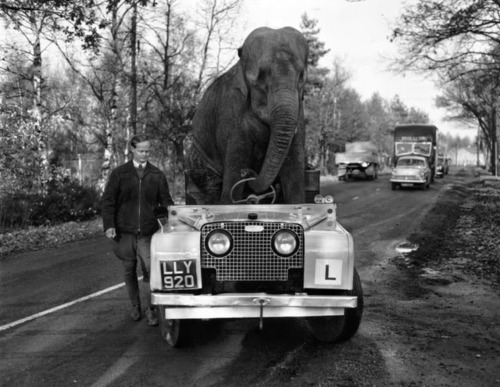
POLYGON ((402 156, 427 159, 434 182, 437 165, 437 127, 429 124, 398 125, 394 128, 394 167, 402 156))

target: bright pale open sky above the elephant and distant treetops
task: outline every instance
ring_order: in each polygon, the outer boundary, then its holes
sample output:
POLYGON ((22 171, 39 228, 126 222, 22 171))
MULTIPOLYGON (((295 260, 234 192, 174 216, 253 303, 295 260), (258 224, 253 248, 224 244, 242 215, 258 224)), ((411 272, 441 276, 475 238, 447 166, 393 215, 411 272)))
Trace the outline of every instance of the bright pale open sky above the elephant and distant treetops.
POLYGON ((439 90, 430 79, 415 74, 398 75, 387 70, 387 58, 397 53, 390 43, 391 25, 405 0, 245 0, 241 19, 241 39, 255 28, 291 26, 299 29, 303 13, 318 21, 319 39, 330 52, 320 62, 332 67, 334 57, 351 73, 350 86, 369 99, 379 93, 391 100, 395 95, 408 107, 425 111, 443 133, 473 138, 475 129, 445 120, 446 111, 434 100, 439 90))

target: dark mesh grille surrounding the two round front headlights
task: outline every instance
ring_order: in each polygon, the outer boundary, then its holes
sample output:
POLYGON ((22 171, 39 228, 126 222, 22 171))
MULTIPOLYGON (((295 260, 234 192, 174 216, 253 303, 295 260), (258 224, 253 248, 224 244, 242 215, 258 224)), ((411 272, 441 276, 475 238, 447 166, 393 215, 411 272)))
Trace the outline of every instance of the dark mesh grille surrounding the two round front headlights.
POLYGON ((213 268, 217 281, 286 281, 288 269, 302 268, 304 262, 304 229, 299 224, 279 222, 216 222, 201 229, 201 267, 213 268), (245 226, 263 226, 261 232, 245 231, 245 226), (205 249, 205 238, 217 229, 224 229, 233 237, 234 247, 224 257, 214 257, 205 249), (288 229, 299 238, 297 252, 283 258, 271 247, 273 235, 288 229))

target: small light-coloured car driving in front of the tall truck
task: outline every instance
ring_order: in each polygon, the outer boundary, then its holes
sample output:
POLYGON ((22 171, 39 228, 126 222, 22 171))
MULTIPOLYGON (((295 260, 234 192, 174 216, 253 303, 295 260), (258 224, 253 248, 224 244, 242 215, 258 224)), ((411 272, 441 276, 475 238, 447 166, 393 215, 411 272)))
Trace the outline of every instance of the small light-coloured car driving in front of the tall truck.
POLYGON ((431 169, 427 158, 423 156, 402 156, 392 170, 391 186, 419 187, 422 190, 429 188, 431 183, 431 169))

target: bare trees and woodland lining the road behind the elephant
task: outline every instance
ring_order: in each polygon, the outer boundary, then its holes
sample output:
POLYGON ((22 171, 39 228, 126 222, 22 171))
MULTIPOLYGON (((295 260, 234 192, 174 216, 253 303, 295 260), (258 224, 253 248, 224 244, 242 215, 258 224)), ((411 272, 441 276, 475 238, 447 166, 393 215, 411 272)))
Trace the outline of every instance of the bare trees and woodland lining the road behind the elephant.
MULTIPOLYGON (((179 0, 3 0, 0 233, 95 217, 107 176, 128 159, 127 143, 136 133, 152 136, 152 162, 182 202, 191 119, 207 85, 237 61, 242 42, 232 31, 243 1, 200 0, 187 11, 179 0)), ((458 3, 450 4, 450 15, 460 15, 458 3)), ((394 31, 393 39, 407 49, 397 64, 399 70, 436 71, 410 51, 426 47, 410 34, 427 28, 417 23, 425 20, 425 10, 414 21, 408 18, 416 10, 409 7, 394 31)), ((349 86, 350 70, 341 59, 330 68, 320 66, 328 48, 318 38, 318 22, 304 13, 300 30, 310 46, 305 116, 312 168, 334 174, 335 153, 352 141, 372 141, 388 161, 396 124, 429 121, 426 112, 397 95, 386 100, 375 93, 363 100, 349 86)), ((478 117, 453 94, 466 87, 465 80, 469 90, 477 89, 484 75, 474 78, 470 74, 477 72, 463 69, 453 77, 442 74, 447 88, 437 102, 457 120, 476 120, 480 127, 486 120, 480 134, 492 127, 496 133, 496 100, 478 117)), ((491 100, 497 89, 488 90, 491 100)), ((467 98, 469 105, 481 102, 478 95, 467 98)), ((476 139, 489 154, 490 138, 476 139)), ((451 150, 471 140, 441 135, 440 143, 451 150)))

